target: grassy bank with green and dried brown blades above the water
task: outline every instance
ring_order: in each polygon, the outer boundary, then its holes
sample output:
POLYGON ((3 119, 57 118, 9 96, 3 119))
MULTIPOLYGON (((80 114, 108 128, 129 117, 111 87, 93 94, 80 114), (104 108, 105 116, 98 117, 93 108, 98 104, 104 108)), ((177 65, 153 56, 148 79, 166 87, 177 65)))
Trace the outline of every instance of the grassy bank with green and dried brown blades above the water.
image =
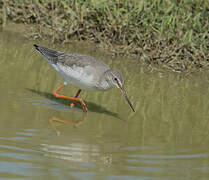
POLYGON ((3 0, 0 22, 35 24, 30 36, 90 40, 177 72, 209 65, 206 0, 3 0))

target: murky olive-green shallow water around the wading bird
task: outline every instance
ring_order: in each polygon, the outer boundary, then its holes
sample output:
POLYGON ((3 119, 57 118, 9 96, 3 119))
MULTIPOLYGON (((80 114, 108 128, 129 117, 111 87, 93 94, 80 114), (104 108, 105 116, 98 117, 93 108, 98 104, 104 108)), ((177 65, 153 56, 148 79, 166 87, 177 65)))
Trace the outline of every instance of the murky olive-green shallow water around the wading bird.
POLYGON ((63 81, 33 43, 0 32, 0 179, 209 179, 208 74, 152 73, 86 44, 41 43, 95 56, 124 75, 136 112, 117 89, 82 91, 85 116, 52 96, 63 81))

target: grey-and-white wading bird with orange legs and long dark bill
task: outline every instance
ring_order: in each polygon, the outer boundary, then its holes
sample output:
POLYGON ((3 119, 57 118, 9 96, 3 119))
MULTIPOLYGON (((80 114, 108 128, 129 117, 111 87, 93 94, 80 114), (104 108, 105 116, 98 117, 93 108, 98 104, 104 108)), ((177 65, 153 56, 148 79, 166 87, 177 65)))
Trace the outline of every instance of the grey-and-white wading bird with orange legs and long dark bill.
MULTIPOLYGON (((125 96, 125 99, 134 111, 133 105, 129 101, 126 91, 124 90, 123 76, 119 71, 109 68, 105 63, 91 56, 64 53, 36 44, 34 47, 64 79, 64 83, 53 91, 55 97, 79 102, 83 107, 83 111, 87 112, 84 101, 81 98, 78 98, 82 89, 105 91, 115 86, 125 96), (79 88, 75 97, 58 94, 58 91, 67 84, 79 88)), ((74 103, 71 103, 70 107, 73 108, 74 103)))

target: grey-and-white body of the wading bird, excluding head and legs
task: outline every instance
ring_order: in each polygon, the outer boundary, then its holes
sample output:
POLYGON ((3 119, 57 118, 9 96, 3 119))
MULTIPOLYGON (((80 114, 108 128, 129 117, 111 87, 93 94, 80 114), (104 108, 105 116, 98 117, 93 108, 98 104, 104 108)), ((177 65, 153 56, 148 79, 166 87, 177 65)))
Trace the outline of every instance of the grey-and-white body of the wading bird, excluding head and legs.
POLYGON ((110 69, 91 56, 54 51, 37 45, 34 47, 60 73, 66 83, 81 89, 98 89, 100 77, 110 69))

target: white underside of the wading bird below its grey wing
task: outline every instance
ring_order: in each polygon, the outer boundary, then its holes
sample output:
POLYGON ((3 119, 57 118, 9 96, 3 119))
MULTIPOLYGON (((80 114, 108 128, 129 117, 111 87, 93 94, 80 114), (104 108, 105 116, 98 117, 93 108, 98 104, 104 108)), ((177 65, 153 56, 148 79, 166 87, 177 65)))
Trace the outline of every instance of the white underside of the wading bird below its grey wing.
POLYGON ((86 90, 98 90, 96 87, 96 82, 94 81, 94 77, 92 73, 86 73, 88 72, 88 66, 85 67, 85 70, 83 67, 69 67, 64 66, 62 64, 51 64, 53 68, 56 69, 60 73, 60 75, 63 77, 65 83, 76 86, 80 89, 86 89, 86 90))

